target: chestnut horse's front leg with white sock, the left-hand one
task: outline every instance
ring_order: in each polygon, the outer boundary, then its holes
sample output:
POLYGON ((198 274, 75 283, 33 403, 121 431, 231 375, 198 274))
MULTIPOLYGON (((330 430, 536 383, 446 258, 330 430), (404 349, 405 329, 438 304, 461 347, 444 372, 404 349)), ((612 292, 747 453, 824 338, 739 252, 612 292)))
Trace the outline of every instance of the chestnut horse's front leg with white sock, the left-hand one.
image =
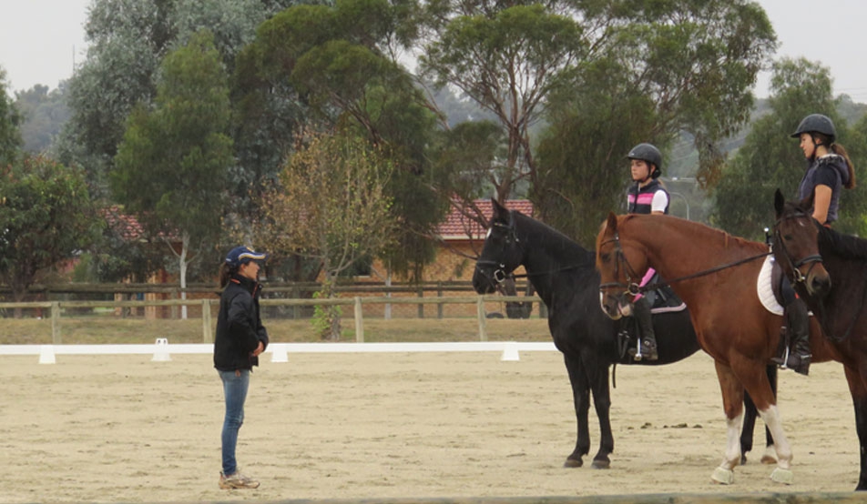
POLYGON ((722 485, 734 482, 734 469, 740 462, 740 424, 743 420, 743 386, 729 366, 714 361, 722 392, 722 407, 726 413, 726 451, 710 479, 722 485))

